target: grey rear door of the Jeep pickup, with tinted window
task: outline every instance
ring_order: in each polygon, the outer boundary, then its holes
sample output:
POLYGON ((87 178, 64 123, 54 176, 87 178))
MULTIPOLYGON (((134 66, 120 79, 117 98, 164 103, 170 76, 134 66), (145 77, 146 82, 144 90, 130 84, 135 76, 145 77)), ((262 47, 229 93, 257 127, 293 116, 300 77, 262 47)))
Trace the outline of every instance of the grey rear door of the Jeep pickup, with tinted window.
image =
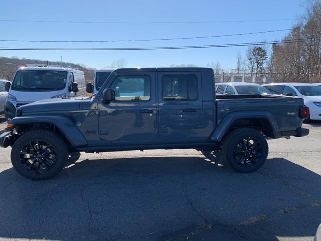
POLYGON ((197 136, 202 114, 201 72, 158 72, 158 136, 183 140, 197 136))

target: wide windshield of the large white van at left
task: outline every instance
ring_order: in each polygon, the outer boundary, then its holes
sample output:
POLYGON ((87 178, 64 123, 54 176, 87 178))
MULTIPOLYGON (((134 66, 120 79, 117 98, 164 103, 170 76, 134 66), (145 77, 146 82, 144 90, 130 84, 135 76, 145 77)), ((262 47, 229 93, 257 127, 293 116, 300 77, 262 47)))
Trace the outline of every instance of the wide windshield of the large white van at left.
POLYGON ((64 89, 66 83, 66 71, 21 70, 16 73, 11 88, 22 91, 53 91, 64 89))

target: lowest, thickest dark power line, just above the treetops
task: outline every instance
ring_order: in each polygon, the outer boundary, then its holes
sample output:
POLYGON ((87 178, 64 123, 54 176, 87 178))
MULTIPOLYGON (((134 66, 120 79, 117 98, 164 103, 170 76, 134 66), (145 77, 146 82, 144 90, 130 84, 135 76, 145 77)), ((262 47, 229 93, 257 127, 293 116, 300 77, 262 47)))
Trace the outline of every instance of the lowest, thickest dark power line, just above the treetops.
POLYGON ((306 41, 314 41, 321 37, 306 38, 306 39, 292 39, 292 40, 278 40, 267 42, 252 42, 252 43, 235 43, 235 44, 218 44, 218 45, 195 45, 195 46, 168 46, 168 47, 139 47, 139 48, 11 48, 0 47, 0 50, 32 50, 32 51, 119 51, 119 50, 166 50, 166 49, 199 49, 199 48, 223 48, 223 47, 240 47, 240 46, 254 46, 254 45, 271 45, 283 43, 299 43, 306 41))

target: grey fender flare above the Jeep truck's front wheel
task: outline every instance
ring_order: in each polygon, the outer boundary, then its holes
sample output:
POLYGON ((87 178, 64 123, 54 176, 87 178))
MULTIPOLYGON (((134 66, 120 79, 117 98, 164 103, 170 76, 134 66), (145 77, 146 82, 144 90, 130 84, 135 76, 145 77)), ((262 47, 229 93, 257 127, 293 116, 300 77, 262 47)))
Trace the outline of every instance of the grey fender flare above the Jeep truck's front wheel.
POLYGON ((87 140, 76 127, 76 125, 66 116, 19 116, 13 118, 10 123, 14 126, 35 123, 49 123, 55 125, 71 143, 73 147, 87 145, 87 140))

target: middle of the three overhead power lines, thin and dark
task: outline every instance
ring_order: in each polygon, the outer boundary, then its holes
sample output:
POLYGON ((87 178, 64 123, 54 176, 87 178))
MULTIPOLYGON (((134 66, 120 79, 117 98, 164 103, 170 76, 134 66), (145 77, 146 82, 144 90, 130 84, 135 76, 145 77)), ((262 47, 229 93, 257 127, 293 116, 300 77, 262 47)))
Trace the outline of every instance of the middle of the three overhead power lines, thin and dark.
POLYGON ((143 42, 143 41, 163 41, 163 40, 185 40, 185 39, 205 39, 205 38, 218 38, 218 37, 230 37, 240 35, 252 35, 263 33, 274 33, 288 31, 291 29, 277 29, 251 33, 239 33, 239 34, 223 34, 212 36, 198 36, 198 37, 183 37, 183 38, 164 38, 164 39, 136 39, 136 40, 5 40, 0 39, 0 42, 31 42, 31 43, 105 43, 105 42, 143 42))

